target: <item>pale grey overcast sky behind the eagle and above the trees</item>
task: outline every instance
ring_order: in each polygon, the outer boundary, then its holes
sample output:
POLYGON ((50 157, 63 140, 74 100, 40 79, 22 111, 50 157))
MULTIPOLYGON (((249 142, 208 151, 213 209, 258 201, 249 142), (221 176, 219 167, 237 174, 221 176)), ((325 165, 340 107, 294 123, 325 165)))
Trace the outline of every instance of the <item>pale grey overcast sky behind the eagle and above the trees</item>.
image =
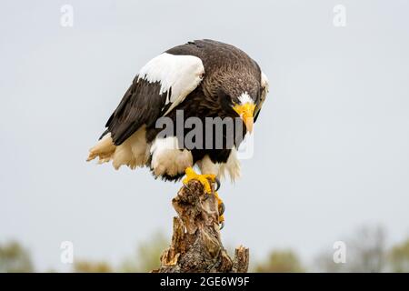
POLYGON ((0 242, 40 270, 75 257, 117 263, 170 235, 180 183, 85 163, 142 65, 175 45, 236 45, 268 75, 242 179, 222 184, 223 240, 305 260, 357 226, 409 235, 409 2, 3 1, 0 9, 0 242), (74 26, 60 25, 62 5, 74 26), (333 24, 334 5, 346 26, 333 24))

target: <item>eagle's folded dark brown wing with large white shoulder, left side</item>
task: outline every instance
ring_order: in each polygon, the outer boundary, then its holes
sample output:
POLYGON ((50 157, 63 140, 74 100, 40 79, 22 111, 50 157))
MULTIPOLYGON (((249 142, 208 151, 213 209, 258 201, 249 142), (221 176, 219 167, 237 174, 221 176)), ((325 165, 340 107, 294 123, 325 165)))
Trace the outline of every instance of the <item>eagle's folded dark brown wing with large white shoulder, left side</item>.
POLYGON ((197 56, 156 56, 136 75, 108 119, 105 133, 111 133, 118 146, 140 126, 155 125, 157 118, 168 114, 195 90, 204 74, 205 67, 197 56))

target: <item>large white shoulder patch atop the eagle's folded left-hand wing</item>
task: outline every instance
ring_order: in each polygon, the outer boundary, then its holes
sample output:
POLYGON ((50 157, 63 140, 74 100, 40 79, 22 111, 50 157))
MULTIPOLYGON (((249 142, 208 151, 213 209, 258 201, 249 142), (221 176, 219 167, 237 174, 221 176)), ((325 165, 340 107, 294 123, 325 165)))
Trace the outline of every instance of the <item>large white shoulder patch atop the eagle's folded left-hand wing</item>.
POLYGON ((160 83, 159 94, 167 92, 165 104, 172 103, 165 112, 167 115, 195 90, 204 74, 205 67, 197 56, 164 53, 156 56, 142 67, 139 71, 138 81, 145 79, 150 83, 160 83), (169 92, 172 94, 169 95, 169 92))

